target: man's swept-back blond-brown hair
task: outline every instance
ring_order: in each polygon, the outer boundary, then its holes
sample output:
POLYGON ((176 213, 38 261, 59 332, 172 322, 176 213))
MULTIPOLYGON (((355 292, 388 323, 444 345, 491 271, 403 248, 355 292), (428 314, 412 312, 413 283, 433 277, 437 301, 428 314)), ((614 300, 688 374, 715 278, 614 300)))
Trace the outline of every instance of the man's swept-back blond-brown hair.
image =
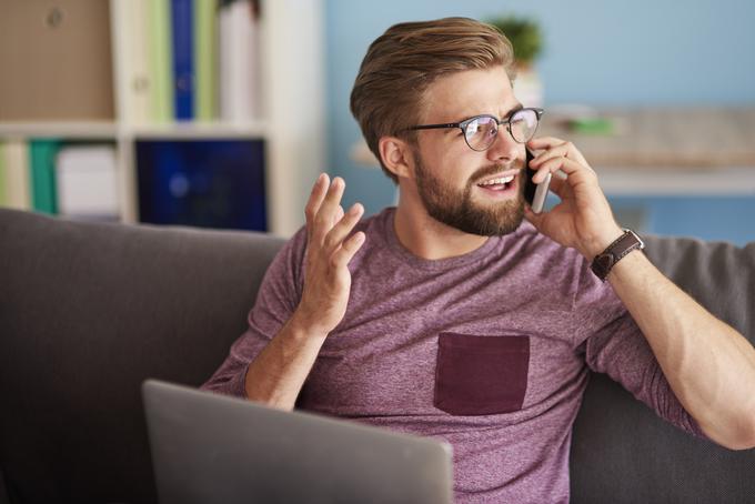
POLYGON ((362 129, 383 171, 379 141, 402 137, 416 142, 406 129, 421 120, 424 94, 437 78, 473 69, 502 65, 513 81, 514 50, 495 27, 469 18, 394 24, 370 46, 351 91, 351 113, 362 129))

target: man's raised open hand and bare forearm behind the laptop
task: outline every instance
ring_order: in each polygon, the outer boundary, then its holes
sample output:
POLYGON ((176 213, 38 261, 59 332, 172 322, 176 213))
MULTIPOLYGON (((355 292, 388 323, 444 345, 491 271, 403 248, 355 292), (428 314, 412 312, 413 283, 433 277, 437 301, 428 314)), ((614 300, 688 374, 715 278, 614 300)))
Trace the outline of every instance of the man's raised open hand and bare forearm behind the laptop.
POLYGON ((306 204, 308 245, 304 254, 304 290, 291 319, 246 370, 244 389, 253 401, 293 410, 328 334, 343 319, 351 273, 349 262, 364 243, 364 233, 346 239, 363 208, 344 214, 340 206, 344 182, 329 183, 321 175, 306 204))

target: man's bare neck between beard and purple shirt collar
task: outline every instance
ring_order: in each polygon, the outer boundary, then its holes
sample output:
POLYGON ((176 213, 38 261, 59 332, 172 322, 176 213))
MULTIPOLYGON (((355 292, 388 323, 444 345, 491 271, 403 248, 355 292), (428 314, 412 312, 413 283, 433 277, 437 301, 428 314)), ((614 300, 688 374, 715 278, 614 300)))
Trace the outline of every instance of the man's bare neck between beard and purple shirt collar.
POLYGON ((470 253, 482 246, 489 236, 469 234, 436 221, 417 198, 399 199, 393 221, 399 242, 417 258, 439 260, 470 253))

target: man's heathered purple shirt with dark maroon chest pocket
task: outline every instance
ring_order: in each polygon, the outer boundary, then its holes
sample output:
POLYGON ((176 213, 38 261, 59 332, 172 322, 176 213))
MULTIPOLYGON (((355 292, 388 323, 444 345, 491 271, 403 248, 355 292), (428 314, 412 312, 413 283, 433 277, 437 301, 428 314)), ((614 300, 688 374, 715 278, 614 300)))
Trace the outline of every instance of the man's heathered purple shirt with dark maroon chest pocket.
MULTIPOLYGON (((456 502, 567 502, 572 424, 588 370, 685 431, 682 407, 610 284, 524 222, 465 255, 429 261, 399 242, 395 209, 364 220, 352 290, 299 396, 303 410, 453 446, 456 502)), ((244 395, 246 367, 291 316, 306 233, 280 251, 249 330, 203 389, 244 395)))

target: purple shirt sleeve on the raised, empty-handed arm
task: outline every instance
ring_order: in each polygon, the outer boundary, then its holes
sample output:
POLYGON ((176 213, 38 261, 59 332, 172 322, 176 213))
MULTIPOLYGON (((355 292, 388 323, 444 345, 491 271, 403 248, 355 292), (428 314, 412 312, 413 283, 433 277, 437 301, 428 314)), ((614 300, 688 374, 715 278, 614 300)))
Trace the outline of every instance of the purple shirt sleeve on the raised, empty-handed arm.
POLYGON ((299 305, 303 288, 306 232, 302 228, 273 259, 246 317, 246 331, 233 343, 228 357, 200 389, 240 397, 249 364, 278 334, 299 305))

